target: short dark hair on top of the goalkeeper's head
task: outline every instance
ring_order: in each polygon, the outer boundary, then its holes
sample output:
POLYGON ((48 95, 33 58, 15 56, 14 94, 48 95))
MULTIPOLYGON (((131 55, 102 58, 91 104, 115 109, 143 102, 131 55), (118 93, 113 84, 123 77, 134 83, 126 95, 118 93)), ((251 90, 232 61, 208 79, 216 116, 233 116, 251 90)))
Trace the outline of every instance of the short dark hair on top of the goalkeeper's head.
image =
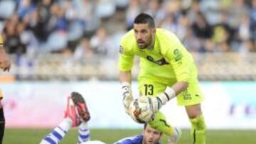
POLYGON ((134 23, 136 24, 148 24, 149 28, 155 28, 156 25, 154 23, 154 19, 152 18, 152 16, 149 16, 146 13, 140 13, 138 16, 136 16, 134 23))

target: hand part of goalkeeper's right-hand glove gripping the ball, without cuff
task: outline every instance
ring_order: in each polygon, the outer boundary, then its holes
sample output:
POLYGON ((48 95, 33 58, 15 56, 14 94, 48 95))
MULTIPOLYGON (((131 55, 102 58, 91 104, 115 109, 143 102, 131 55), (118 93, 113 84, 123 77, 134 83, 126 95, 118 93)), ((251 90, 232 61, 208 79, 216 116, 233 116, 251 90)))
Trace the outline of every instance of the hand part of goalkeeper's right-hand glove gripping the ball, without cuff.
POLYGON ((142 109, 141 115, 139 116, 146 123, 154 119, 154 115, 162 106, 160 99, 157 97, 139 96, 138 101, 146 105, 146 109, 142 109))

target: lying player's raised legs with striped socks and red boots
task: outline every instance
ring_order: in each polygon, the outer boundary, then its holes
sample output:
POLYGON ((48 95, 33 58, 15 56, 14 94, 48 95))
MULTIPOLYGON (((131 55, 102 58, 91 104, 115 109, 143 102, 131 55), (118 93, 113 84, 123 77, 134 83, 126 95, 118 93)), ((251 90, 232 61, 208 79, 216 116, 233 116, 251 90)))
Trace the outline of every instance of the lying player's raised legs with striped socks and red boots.
MULTIPOLYGON (((40 144, 57 144, 64 138, 71 127, 78 126, 78 143, 89 143, 90 130, 87 121, 90 119, 90 113, 87 109, 85 100, 78 92, 72 92, 68 96, 67 108, 65 110, 64 120, 56 126, 53 131, 46 135, 40 144)), ((90 143, 102 144, 99 141, 91 141, 90 143)))

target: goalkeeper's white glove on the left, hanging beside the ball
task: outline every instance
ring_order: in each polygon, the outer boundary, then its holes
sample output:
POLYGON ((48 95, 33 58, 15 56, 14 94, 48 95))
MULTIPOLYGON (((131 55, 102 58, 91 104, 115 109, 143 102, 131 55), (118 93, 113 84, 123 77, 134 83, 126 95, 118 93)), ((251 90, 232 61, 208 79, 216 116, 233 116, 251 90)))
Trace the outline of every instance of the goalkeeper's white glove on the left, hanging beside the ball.
POLYGON ((129 114, 129 106, 133 101, 132 97, 132 88, 128 82, 122 83, 122 97, 123 97, 123 105, 126 113, 129 114))

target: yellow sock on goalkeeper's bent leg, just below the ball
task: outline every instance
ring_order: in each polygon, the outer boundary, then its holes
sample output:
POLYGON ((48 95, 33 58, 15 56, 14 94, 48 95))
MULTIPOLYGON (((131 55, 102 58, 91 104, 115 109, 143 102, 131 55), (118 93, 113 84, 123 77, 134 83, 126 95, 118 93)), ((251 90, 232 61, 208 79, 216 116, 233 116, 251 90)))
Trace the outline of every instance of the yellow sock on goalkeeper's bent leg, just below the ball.
POLYGON ((154 120, 150 121, 148 124, 151 128, 154 128, 160 131, 161 133, 164 133, 170 136, 174 135, 174 131, 175 131, 174 127, 172 127, 169 123, 167 123, 166 117, 161 112, 156 113, 154 120))

